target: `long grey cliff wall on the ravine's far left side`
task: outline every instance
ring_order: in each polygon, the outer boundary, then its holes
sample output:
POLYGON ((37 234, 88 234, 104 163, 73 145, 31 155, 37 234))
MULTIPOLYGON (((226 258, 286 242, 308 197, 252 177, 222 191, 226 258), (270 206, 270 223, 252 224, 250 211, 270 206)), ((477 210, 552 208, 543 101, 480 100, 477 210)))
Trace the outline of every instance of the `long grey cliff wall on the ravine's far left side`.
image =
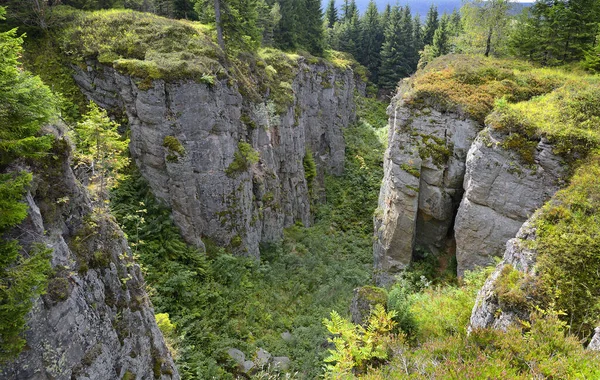
POLYGON ((75 80, 100 106, 124 109, 130 150, 154 194, 173 211, 183 236, 202 247, 210 237, 242 254, 258 255, 260 242, 281 237, 296 221, 311 223, 303 159, 341 174, 342 129, 355 119, 351 70, 299 63, 293 104, 277 115, 274 104, 245 99, 225 81, 213 86, 158 80, 143 90, 129 76, 90 62, 75 80), (165 147, 172 136, 185 153, 165 147), (238 142, 260 155, 231 169, 238 142))

